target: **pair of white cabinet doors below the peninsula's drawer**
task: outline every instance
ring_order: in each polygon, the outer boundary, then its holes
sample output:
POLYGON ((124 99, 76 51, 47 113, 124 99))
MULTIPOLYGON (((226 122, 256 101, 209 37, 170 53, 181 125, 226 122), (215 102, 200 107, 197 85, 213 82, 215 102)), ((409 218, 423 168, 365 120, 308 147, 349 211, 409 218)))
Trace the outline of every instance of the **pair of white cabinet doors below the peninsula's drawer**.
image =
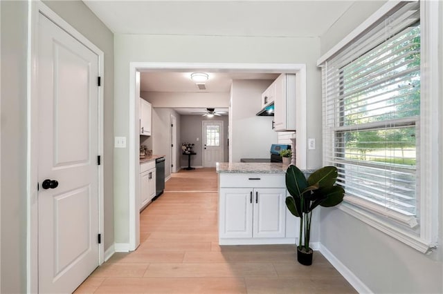
POLYGON ((284 237, 285 188, 221 188, 220 237, 284 237))

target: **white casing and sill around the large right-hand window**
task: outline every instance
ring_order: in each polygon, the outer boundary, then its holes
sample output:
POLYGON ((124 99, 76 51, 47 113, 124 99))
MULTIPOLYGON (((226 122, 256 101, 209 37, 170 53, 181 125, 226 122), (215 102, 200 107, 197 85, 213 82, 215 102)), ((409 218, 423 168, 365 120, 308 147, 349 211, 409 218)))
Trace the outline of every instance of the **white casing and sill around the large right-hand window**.
MULTIPOLYGON (((350 35, 339 42, 317 61, 317 66, 323 66, 329 57, 341 50, 368 29, 372 24, 383 18, 390 10, 395 9, 400 1, 388 1, 377 12, 372 14, 361 26, 353 30, 350 35)), ((364 200, 346 199, 339 207, 362 222, 379 229, 404 244, 415 248, 417 251, 426 253, 437 246, 438 239, 438 195, 439 195, 439 149, 440 141, 438 133, 438 109, 439 108, 439 76, 438 70, 438 11, 439 1, 420 2, 420 26, 421 26, 421 109, 420 109, 420 144, 417 153, 417 209, 419 211, 418 233, 410 231, 397 222, 392 222, 388 217, 377 213, 374 207, 370 207, 364 200), (367 208, 367 209, 365 209, 367 208)), ((323 136, 330 136, 328 130, 323 128, 323 136)), ((330 130, 329 130, 330 132, 330 130)), ((326 141, 323 140, 323 160, 325 160, 326 141)), ((324 162, 325 164, 325 162, 324 162)), ((392 216, 392 218, 394 218, 392 216)))

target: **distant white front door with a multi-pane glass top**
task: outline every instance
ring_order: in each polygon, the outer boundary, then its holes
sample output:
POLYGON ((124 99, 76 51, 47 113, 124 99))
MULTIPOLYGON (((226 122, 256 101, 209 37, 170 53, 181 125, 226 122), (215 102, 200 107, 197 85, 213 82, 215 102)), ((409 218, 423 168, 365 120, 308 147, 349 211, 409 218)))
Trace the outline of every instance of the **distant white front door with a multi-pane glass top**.
POLYGON ((203 121, 203 166, 215 167, 223 161, 223 121, 203 121))

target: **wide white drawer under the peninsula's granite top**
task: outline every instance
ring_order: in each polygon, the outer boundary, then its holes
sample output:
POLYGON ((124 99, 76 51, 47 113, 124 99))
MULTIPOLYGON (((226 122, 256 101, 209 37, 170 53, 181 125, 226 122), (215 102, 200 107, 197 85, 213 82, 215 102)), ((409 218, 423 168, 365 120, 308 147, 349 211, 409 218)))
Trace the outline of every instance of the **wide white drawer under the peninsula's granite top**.
POLYGON ((219 174, 220 187, 226 188, 285 188, 285 175, 283 174, 219 174))

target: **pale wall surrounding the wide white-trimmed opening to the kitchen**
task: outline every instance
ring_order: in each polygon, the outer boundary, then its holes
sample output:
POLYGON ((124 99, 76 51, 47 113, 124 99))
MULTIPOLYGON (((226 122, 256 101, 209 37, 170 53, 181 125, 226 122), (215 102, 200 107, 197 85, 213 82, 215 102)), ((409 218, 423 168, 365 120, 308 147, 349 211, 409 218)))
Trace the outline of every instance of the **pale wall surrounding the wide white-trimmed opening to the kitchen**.
MULTIPOLYGON (((115 35, 114 133, 129 137, 129 63, 306 63, 307 136, 320 138, 320 56, 318 38, 115 35), (179 49, 177 49, 179 48, 179 49)), ((320 166, 321 150, 308 153, 308 168, 320 166)), ((114 150, 116 242, 129 242, 129 150, 114 150)))

